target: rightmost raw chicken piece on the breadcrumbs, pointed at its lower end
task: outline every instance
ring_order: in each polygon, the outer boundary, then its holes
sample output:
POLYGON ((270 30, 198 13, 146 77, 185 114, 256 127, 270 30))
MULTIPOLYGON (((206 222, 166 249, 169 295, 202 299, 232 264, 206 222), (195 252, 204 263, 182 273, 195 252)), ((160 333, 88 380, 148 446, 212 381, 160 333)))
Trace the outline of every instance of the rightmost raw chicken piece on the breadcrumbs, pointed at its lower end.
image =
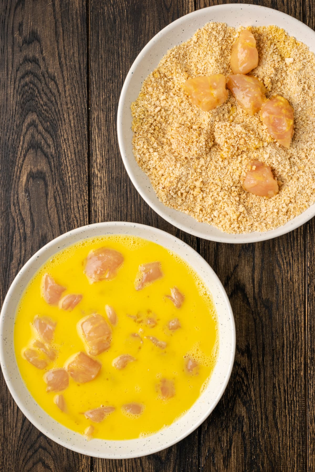
POLYGON ((288 100, 275 95, 264 103, 260 118, 273 139, 289 149, 293 136, 294 111, 288 100))

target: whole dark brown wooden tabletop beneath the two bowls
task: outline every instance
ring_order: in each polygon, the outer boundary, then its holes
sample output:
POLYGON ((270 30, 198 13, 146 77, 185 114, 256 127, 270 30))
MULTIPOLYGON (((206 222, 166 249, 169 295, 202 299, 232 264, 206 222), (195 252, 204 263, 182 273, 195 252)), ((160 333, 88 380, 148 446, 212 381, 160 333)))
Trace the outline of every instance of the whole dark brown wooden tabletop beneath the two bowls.
MULTIPOLYGON (((120 159, 119 93, 138 52, 176 18, 224 1, 0 0, 0 299, 52 238, 126 220, 178 236, 232 304, 237 349, 214 412, 169 449, 128 461, 73 453, 19 411, 1 376, 0 471, 315 470, 315 220, 257 244, 204 241, 139 197, 120 159)), ((251 2, 254 3, 254 2, 251 2)), ((315 0, 262 0, 315 27, 315 0)))

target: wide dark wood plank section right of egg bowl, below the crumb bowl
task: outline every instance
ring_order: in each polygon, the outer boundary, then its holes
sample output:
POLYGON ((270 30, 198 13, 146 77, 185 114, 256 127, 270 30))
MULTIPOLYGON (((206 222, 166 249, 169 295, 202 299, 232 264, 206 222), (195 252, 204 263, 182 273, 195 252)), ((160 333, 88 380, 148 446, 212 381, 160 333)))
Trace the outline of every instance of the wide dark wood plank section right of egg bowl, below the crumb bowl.
POLYGON ((306 470, 304 228, 233 247, 202 241, 235 317, 237 350, 202 425, 201 471, 306 470))

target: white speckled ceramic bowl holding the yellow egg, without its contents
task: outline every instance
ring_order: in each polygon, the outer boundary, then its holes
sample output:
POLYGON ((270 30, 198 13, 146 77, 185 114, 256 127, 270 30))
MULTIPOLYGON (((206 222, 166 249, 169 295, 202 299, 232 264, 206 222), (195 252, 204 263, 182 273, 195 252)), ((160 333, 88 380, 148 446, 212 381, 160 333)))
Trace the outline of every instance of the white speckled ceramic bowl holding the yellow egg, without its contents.
POLYGON ((34 426, 49 438, 81 454, 95 457, 111 459, 138 457, 165 449, 180 441, 180 439, 185 438, 207 418, 220 400, 230 379, 234 354, 234 318, 230 302, 220 280, 207 262, 204 261, 194 249, 178 238, 150 226, 120 222, 97 223, 95 225, 77 228, 57 237, 34 254, 19 271, 9 288, 1 310, 0 364, 5 381, 18 407, 34 426), (93 439, 87 442, 82 435, 68 430, 60 423, 53 420, 37 405, 28 392, 20 376, 14 353, 14 321, 17 304, 24 289, 35 272, 47 259, 51 258, 53 254, 69 244, 76 243, 83 238, 111 234, 140 236, 154 243, 161 244, 167 249, 178 253, 196 270, 203 278, 206 286, 209 287, 218 313, 219 355, 208 387, 179 421, 174 422, 168 428, 147 438, 126 441, 93 439))

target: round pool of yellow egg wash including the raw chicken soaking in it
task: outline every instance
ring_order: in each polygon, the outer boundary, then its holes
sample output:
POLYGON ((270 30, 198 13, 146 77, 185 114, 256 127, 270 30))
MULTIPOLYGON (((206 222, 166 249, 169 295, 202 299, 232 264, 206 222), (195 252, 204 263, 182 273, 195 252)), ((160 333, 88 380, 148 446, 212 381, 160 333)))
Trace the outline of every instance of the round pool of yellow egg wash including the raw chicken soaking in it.
POLYGON ((219 348, 202 279, 133 236, 88 238, 46 261, 21 297, 14 342, 35 401, 88 439, 139 438, 176 421, 219 348))

